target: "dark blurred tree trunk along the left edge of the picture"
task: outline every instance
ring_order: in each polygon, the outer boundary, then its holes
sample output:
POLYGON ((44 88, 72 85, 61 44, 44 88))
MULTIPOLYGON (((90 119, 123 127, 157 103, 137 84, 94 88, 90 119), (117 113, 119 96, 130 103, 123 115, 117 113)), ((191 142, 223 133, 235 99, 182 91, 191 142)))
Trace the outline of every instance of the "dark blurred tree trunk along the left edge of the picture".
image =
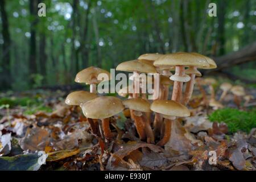
POLYGON ((0 55, 2 57, 2 73, 0 73, 0 89, 8 89, 11 86, 11 38, 9 32, 9 20, 5 9, 5 0, 0 0, 0 11, 2 20, 2 36, 3 36, 3 52, 0 55))

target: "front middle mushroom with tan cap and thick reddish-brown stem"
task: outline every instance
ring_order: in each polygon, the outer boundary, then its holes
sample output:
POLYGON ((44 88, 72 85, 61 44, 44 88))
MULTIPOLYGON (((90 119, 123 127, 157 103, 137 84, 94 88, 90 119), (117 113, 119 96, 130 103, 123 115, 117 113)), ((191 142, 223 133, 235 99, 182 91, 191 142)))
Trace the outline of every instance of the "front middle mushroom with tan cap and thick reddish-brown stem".
POLYGON ((150 113, 150 102, 143 100, 142 98, 130 98, 123 101, 123 105, 130 110, 133 114, 135 127, 139 134, 140 139, 147 137, 148 143, 154 143, 154 134, 150 126, 150 120, 146 117, 146 113, 150 113))

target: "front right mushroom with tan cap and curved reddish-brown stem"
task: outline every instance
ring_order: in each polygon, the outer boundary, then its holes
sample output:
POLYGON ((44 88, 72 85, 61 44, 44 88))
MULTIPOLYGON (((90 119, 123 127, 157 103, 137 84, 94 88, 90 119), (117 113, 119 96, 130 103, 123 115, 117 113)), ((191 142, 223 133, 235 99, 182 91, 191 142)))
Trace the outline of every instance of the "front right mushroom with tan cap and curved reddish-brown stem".
POLYGON ((172 121, 176 117, 189 117, 190 111, 184 105, 176 101, 156 100, 152 102, 150 109, 155 113, 163 115, 165 122, 165 129, 163 138, 158 142, 159 146, 164 146, 171 136, 172 121))

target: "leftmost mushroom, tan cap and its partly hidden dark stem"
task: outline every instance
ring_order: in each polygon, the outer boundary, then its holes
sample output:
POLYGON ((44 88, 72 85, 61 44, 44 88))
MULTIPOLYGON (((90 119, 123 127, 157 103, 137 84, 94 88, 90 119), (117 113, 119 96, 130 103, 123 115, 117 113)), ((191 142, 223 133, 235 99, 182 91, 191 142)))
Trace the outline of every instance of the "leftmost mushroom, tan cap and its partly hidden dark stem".
MULTIPOLYGON (((80 106, 81 104, 93 100, 94 98, 98 97, 95 93, 90 93, 84 90, 75 91, 72 93, 69 93, 65 104, 67 105, 73 105, 73 106, 80 106)), ((97 124, 94 123, 93 119, 87 118, 90 128, 92 129, 93 134, 97 134, 97 124)))

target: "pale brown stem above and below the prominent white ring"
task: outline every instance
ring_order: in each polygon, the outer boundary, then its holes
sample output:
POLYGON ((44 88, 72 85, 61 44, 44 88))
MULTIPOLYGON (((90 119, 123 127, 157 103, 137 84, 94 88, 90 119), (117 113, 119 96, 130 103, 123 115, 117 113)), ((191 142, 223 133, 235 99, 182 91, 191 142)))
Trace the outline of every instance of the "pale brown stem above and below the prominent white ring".
MULTIPOLYGON (((175 67, 175 75, 183 76, 185 73, 184 66, 176 66, 175 67)), ((183 82, 174 81, 174 90, 172 91, 172 100, 176 102, 180 102, 181 94, 182 94, 183 82)))

